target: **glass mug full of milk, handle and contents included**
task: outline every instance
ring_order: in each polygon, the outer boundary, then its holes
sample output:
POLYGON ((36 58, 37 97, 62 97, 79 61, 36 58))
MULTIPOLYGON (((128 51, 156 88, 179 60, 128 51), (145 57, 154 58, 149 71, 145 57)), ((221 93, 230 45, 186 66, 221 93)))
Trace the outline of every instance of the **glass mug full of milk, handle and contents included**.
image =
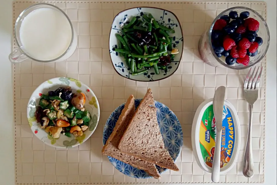
POLYGON ((9 59, 13 63, 27 58, 38 62, 63 61, 77 47, 77 35, 69 17, 60 8, 38 3, 25 9, 14 26, 18 49, 9 59))

